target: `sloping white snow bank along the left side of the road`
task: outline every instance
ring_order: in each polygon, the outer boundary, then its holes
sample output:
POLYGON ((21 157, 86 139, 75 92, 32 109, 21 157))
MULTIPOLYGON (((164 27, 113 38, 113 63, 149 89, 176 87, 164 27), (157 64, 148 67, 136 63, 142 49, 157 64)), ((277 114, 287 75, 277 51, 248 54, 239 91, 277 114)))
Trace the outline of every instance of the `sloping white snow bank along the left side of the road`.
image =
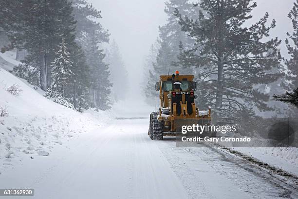
POLYGON ((0 117, 0 172, 22 159, 51 156, 55 145, 63 145, 109 119, 102 111, 79 113, 56 104, 3 69, 0 69, 0 96, 0 107, 8 112, 8 117, 0 117), (6 90, 13 84, 19 86, 19 96, 6 90), (98 118, 105 120, 99 122, 98 118))

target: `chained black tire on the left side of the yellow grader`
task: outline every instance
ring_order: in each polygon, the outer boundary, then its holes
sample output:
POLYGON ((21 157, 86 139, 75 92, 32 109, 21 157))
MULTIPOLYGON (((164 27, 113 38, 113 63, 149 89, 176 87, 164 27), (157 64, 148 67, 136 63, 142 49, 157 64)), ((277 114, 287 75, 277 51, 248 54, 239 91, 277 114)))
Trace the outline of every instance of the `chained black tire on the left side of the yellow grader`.
POLYGON ((159 115, 158 112, 153 112, 150 114, 150 127, 151 127, 150 138, 154 140, 164 139, 165 122, 158 121, 157 120, 158 115, 159 115))

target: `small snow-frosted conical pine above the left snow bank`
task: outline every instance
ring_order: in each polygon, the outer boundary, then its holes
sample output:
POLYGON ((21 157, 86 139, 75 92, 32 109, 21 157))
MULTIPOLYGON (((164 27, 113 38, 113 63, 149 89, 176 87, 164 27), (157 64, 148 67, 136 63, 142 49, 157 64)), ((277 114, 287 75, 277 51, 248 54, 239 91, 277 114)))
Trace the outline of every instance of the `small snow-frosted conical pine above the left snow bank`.
POLYGON ((69 52, 66 48, 66 43, 64 38, 59 45, 59 50, 56 52, 56 58, 52 63, 52 84, 47 89, 44 95, 48 99, 54 102, 67 106, 69 108, 74 108, 73 104, 70 103, 70 99, 65 95, 66 83, 74 75, 71 71, 72 61, 70 60, 69 52))

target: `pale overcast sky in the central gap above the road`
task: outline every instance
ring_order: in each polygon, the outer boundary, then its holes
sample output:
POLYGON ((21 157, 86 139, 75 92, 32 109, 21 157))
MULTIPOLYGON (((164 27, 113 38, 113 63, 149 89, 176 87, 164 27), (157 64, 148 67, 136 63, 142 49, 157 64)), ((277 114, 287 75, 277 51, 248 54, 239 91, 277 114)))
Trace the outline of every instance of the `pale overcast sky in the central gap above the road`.
MULTIPOLYGON (((144 57, 166 22, 163 0, 89 0, 102 11, 100 22, 119 45, 130 86, 140 85, 144 57)), ((134 86, 135 87, 135 86, 134 86)))

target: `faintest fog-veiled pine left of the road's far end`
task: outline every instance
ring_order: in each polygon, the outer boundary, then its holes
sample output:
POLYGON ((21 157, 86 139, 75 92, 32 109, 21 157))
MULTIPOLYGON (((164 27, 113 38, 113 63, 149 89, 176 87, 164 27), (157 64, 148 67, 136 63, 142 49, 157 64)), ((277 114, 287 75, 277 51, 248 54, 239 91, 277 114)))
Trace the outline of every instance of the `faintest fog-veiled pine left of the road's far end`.
POLYGON ((125 68, 119 47, 115 40, 112 40, 109 57, 106 59, 111 71, 112 97, 113 100, 124 100, 127 96, 123 89, 128 88, 128 72, 125 68))

